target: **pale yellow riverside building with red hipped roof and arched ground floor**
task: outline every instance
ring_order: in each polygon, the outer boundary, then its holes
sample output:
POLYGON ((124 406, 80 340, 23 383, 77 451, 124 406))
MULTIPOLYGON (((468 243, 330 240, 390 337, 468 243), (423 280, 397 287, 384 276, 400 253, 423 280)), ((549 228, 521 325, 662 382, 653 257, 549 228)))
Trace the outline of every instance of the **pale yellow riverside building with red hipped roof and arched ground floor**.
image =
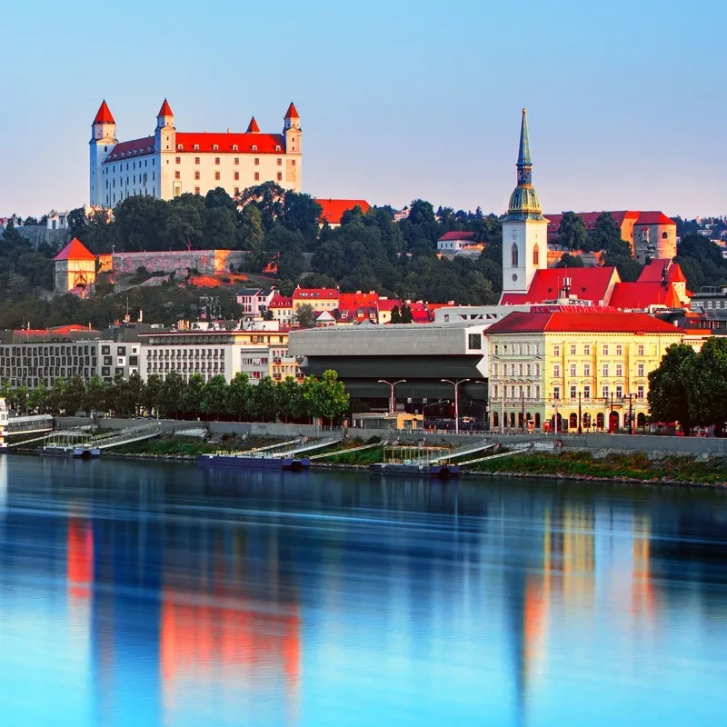
POLYGON ((509 314, 487 329, 490 424, 553 432, 642 426, 649 373, 685 337, 641 313, 509 314))

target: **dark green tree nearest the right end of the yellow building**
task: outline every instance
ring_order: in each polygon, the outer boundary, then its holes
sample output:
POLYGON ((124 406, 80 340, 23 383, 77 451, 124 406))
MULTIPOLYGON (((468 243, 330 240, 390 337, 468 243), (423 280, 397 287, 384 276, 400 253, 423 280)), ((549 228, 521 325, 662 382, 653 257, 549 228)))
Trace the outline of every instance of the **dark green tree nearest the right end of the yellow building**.
POLYGON ((696 354, 691 346, 673 344, 666 349, 659 367, 649 373, 649 408, 656 422, 679 422, 692 432, 689 376, 696 354))

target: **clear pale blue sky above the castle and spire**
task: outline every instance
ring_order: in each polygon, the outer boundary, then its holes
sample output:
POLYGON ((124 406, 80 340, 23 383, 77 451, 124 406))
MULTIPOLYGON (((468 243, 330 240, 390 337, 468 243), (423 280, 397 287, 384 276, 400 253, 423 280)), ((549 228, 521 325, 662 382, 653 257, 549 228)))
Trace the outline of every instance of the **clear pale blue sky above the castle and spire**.
POLYGON ((0 216, 88 201, 102 99, 120 141, 280 132, 304 192, 502 214, 528 109, 543 212, 727 214, 718 0, 5 0, 0 216))

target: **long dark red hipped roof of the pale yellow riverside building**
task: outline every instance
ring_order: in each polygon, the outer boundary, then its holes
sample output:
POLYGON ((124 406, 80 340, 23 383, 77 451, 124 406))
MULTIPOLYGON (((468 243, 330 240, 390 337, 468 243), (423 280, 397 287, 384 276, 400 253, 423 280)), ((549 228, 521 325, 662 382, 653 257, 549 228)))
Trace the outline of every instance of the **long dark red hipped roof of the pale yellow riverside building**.
POLYGON ((682 330, 645 313, 522 313, 515 311, 491 325, 487 334, 681 334, 682 330))

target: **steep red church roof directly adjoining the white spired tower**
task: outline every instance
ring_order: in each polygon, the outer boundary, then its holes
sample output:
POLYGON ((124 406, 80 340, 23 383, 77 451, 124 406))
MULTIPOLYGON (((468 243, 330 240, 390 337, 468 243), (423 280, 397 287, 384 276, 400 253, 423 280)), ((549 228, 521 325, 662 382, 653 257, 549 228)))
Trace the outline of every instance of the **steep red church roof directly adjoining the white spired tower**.
POLYGON ((527 293, 505 293, 500 301, 503 305, 544 303, 558 297, 563 287, 563 278, 571 278, 570 294, 581 300, 608 304, 609 289, 621 278, 614 267, 547 268, 536 270, 527 293))

